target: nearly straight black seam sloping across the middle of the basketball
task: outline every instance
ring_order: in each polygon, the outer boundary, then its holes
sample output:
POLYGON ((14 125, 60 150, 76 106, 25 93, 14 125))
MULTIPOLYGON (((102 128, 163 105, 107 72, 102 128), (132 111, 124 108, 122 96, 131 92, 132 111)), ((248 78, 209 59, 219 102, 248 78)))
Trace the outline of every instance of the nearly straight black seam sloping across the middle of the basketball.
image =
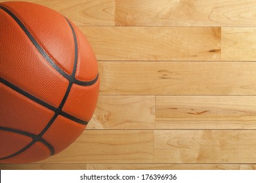
MULTIPOLYGON (((38 99, 37 97, 34 97, 33 95, 31 95, 30 93, 28 92, 25 92, 24 90, 18 88, 17 86, 15 86, 14 84, 11 84, 11 82, 8 82, 7 80, 3 79, 0 77, 0 82, 5 84, 5 86, 8 86, 9 88, 11 88, 12 90, 24 95, 25 97, 31 99, 32 101, 35 101, 36 103, 38 103, 39 105, 42 105, 43 107, 46 107, 46 108, 49 108, 50 110, 53 110, 54 112, 57 112, 58 108, 55 108, 51 105, 49 105, 48 103, 45 103, 44 101, 41 101, 40 99, 38 99)), ((62 115, 62 112, 59 112, 61 116, 64 116, 62 115)), ((64 112, 66 113, 66 112, 64 112)), ((75 118, 74 116, 68 114, 66 116, 64 116, 70 120, 73 120, 74 122, 77 122, 79 124, 87 124, 88 122, 85 122, 83 120, 80 120, 78 118, 75 118), (76 121, 77 119, 77 121, 76 121)))

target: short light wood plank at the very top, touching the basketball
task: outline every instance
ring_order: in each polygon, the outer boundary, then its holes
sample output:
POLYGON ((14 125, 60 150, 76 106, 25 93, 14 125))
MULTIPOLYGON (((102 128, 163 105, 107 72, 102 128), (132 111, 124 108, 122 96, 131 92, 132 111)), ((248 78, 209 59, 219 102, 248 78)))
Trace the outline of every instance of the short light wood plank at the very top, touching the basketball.
MULTIPOLYGON (((52 8, 72 20, 76 25, 115 25, 115 0, 27 1, 52 8)), ((5 1, 0 0, 1 2, 5 1)))

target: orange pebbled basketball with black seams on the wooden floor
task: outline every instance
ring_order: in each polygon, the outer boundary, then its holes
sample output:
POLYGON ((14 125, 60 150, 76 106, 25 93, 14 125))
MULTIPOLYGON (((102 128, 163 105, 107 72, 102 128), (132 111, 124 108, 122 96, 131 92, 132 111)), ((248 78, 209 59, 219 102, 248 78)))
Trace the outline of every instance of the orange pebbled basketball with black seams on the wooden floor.
POLYGON ((0 163, 64 150, 93 116, 95 54, 68 18, 41 5, 0 3, 0 163))

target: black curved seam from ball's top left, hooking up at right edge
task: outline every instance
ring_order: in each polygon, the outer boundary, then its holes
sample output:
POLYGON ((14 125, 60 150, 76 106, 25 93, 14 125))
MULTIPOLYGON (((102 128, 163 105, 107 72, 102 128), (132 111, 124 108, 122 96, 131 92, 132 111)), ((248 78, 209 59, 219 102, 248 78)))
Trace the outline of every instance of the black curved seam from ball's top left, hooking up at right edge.
MULTIPOLYGON (((35 39, 33 38, 32 34, 30 33, 30 31, 28 31, 28 29, 26 28, 26 26, 24 24, 22 24, 22 22, 18 19, 17 16, 15 16, 11 10, 3 7, 0 5, 0 9, 4 10, 5 12, 7 12, 7 14, 9 14, 15 21, 16 23, 22 28, 22 30, 26 33, 26 35, 28 36, 28 38, 30 39, 30 41, 32 41, 33 45, 35 46, 35 48, 37 48, 37 50, 40 52, 40 54, 47 60, 48 63, 51 64, 51 66, 53 66, 53 68, 60 73, 60 75, 64 76, 65 78, 67 78, 68 80, 74 82, 75 84, 81 85, 81 86, 89 86, 92 85, 96 82, 96 80, 91 80, 88 82, 83 82, 80 80, 75 79, 75 77, 72 77, 70 75, 68 75, 67 73, 65 73, 64 71, 62 71, 62 69, 60 69, 60 67, 58 67, 58 65, 56 65, 56 63, 54 63, 54 61, 49 58, 49 56, 47 55, 47 53, 45 52, 45 50, 43 50, 43 48, 38 44, 37 41, 35 41, 35 39)), ((68 24, 70 24, 70 22, 68 22, 68 24)), ((72 28, 73 29, 73 28, 72 28)), ((98 76, 96 76, 96 78, 98 78, 98 76)))

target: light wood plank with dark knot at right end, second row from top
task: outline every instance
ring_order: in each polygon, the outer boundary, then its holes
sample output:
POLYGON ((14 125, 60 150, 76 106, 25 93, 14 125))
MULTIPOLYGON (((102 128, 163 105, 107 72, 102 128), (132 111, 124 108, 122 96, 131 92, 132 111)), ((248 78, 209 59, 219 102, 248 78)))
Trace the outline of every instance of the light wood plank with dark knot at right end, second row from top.
POLYGON ((219 27, 80 27, 98 60, 221 59, 219 27))

